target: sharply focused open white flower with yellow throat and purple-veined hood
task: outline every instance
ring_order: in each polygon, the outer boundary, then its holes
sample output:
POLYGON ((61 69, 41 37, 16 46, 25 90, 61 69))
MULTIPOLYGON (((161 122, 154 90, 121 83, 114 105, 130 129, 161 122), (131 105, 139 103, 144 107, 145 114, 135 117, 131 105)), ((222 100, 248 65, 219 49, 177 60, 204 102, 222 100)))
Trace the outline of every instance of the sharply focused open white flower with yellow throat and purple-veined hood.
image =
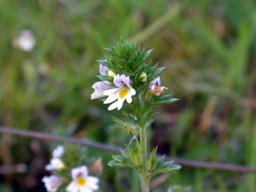
POLYGON ((119 76, 118 74, 114 77, 114 84, 118 86, 118 88, 106 90, 102 93, 103 95, 108 95, 108 99, 104 101, 104 104, 111 103, 117 99, 116 102, 108 107, 109 110, 113 110, 115 108, 118 110, 121 109, 124 100, 126 99, 128 103, 131 103, 132 95, 136 94, 136 91, 131 87, 131 80, 129 76, 125 77, 124 74, 119 76))

